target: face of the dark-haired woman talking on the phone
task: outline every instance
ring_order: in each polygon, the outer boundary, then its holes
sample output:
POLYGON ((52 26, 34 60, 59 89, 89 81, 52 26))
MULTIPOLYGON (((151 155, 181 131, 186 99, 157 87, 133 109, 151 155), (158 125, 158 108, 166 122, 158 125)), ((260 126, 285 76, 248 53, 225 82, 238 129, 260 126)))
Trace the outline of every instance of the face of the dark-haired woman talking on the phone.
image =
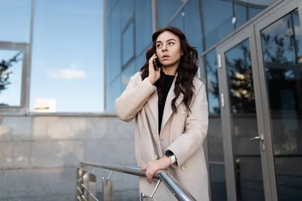
POLYGON ((169 31, 161 33, 156 40, 156 54, 163 66, 179 62, 182 50, 178 36, 169 31))

